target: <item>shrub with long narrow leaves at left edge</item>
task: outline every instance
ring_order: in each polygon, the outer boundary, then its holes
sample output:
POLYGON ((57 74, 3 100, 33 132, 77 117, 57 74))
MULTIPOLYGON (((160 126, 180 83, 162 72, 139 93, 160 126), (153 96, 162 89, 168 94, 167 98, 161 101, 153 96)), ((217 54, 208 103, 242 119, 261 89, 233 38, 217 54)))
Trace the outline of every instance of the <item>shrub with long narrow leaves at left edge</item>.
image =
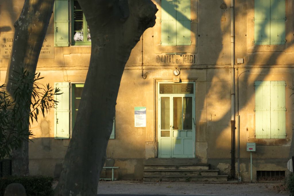
POLYGON ((45 117, 57 103, 54 96, 61 94, 60 89, 39 83, 44 78, 40 73, 23 71, 15 76, 10 81, 12 94, 5 91, 4 84, 0 85, 0 159, 21 147, 22 142, 29 142, 33 137, 30 125, 38 121, 39 113, 45 117))

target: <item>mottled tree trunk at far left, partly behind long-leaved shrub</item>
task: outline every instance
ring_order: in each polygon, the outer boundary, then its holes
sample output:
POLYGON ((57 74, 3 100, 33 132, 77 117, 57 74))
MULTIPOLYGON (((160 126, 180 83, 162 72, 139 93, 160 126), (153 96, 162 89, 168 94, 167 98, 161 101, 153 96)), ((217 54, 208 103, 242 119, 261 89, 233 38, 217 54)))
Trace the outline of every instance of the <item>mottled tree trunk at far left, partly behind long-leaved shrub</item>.
MULTIPOLYGON (((55 0, 25 0, 24 6, 15 22, 13 45, 9 64, 7 67, 6 91, 13 99, 14 89, 12 81, 27 71, 27 74, 36 72, 37 62, 49 21, 53 11, 55 0)), ((31 81, 31 88, 33 81, 31 81)), ((31 94, 24 98, 24 102, 31 99, 31 94)), ((20 103, 26 105, 25 103, 20 103)), ((29 106, 30 107, 30 106, 29 106)), ((24 117, 27 117, 23 125, 29 130, 29 112, 30 108, 24 108, 24 117)), ((23 142, 22 147, 14 150, 12 153, 12 174, 28 175, 29 174, 29 144, 23 142)))

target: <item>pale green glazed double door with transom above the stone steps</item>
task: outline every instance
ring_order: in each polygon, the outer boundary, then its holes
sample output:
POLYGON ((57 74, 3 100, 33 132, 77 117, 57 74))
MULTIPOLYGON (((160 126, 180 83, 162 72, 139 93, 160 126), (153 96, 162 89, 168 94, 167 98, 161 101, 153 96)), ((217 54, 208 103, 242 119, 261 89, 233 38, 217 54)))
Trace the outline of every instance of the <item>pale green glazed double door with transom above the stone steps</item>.
POLYGON ((159 84, 158 157, 195 157, 194 84, 159 84))

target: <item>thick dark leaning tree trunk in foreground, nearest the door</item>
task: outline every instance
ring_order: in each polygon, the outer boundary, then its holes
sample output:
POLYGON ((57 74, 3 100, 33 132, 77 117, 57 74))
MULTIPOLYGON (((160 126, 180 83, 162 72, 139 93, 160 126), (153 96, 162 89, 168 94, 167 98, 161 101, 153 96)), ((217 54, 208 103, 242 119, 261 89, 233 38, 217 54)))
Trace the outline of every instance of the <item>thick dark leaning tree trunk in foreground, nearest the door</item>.
POLYGON ((96 195, 124 66, 154 26, 150 0, 79 0, 91 31, 91 58, 77 119, 55 195, 96 195))

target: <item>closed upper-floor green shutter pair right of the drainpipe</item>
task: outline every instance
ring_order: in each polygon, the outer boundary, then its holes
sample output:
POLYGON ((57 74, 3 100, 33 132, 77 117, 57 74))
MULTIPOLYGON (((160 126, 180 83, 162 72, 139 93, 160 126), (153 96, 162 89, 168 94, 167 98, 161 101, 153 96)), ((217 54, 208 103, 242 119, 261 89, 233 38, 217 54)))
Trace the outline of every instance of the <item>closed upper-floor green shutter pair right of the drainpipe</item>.
POLYGON ((285 0, 255 0, 254 44, 285 44, 285 20, 285 0))

